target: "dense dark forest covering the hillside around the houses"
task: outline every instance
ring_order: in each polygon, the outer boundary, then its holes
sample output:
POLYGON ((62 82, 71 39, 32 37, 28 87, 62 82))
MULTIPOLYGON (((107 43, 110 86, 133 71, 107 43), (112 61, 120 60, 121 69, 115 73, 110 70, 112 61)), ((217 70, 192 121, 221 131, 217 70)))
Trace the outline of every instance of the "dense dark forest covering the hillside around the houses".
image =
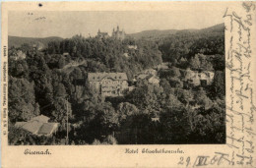
POLYGON ((218 28, 124 40, 75 35, 43 49, 9 48, 9 143, 61 144, 67 115, 68 144, 224 143, 224 27, 218 28), (87 84, 88 73, 124 72, 134 85, 138 72, 162 62, 168 69, 158 70, 160 85, 142 81, 124 96, 104 97, 87 84), (187 69, 214 72, 213 83, 188 84, 187 69), (60 123, 54 137, 14 127, 39 114, 60 123))

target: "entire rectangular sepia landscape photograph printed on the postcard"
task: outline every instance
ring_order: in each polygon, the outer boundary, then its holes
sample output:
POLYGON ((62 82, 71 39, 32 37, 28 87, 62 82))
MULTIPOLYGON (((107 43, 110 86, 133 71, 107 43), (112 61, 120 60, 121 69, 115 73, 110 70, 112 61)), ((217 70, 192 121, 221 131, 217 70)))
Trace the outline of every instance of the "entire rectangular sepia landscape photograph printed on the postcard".
POLYGON ((9 144, 224 143, 222 13, 191 15, 10 11, 9 144))

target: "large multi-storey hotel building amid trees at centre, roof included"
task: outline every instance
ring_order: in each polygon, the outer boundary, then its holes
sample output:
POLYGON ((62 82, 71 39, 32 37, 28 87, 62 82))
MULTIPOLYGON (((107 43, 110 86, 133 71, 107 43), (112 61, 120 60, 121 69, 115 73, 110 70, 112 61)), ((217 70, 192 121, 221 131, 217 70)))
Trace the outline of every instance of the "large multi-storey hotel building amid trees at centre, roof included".
POLYGON ((89 73, 88 83, 104 96, 122 96, 128 89, 125 73, 89 73))

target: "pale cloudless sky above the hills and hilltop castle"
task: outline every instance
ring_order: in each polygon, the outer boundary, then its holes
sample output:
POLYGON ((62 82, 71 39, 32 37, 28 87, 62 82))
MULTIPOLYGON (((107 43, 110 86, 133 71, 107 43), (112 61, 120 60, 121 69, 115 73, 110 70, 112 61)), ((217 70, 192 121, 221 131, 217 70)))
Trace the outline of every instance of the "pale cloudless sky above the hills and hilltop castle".
POLYGON ((119 26, 126 33, 149 29, 208 28, 224 23, 225 9, 187 11, 11 11, 8 14, 8 34, 25 37, 76 34, 96 35, 98 29, 111 35, 119 26))

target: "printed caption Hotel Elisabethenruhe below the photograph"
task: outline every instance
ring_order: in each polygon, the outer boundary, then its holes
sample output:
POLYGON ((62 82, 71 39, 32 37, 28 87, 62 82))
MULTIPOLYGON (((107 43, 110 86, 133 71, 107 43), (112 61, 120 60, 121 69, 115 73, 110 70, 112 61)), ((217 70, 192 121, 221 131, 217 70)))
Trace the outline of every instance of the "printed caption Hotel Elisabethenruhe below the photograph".
MULTIPOLYGON (((150 148, 143 148, 142 153, 184 153, 183 150, 180 150, 179 148, 177 148, 176 150, 168 150, 165 148, 155 148, 155 149, 150 149, 150 148)), ((139 153, 139 149, 130 149, 130 148, 126 148, 125 149, 125 153, 139 153)))

